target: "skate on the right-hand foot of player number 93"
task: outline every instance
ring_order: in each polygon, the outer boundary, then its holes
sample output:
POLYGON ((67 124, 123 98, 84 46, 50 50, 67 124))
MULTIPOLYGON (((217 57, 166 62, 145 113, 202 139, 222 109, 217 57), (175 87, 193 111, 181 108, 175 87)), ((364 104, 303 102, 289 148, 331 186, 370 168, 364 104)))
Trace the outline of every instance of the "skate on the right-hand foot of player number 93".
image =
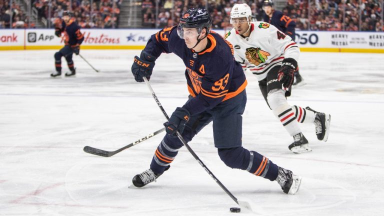
POLYGON ((276 181, 284 193, 295 194, 300 187, 301 177, 279 166, 276 181))

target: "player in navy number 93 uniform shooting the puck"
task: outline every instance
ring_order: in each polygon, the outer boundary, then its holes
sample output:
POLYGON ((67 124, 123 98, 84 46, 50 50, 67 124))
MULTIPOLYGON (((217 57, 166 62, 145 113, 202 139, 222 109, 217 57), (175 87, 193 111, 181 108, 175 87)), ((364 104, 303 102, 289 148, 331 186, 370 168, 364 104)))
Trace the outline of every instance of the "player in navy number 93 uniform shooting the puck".
POLYGON ((140 57, 134 57, 131 70, 135 80, 142 82, 142 77, 150 78, 155 60, 162 52, 179 56, 186 67, 185 78, 190 95, 164 123, 166 135, 154 152, 150 168, 135 175, 132 183, 142 187, 155 181, 170 167, 182 147, 175 135, 176 130, 188 142, 213 121, 214 146, 227 166, 276 180, 285 193, 294 194, 301 177, 241 146, 241 114, 246 103, 247 82, 241 66, 233 58, 232 46, 219 34, 210 31, 211 22, 207 10, 188 9, 181 15, 178 26, 153 34, 140 57))

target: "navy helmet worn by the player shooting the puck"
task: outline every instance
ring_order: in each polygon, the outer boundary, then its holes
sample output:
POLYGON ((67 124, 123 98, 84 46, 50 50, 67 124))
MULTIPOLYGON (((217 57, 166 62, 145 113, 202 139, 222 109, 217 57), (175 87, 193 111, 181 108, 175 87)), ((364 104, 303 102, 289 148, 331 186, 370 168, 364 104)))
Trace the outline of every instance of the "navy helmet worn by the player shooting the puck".
POLYGON ((207 34, 209 33, 210 26, 212 25, 212 17, 209 12, 204 8, 190 8, 181 14, 177 32, 182 38, 182 28, 196 28, 197 33, 200 34, 203 28, 206 28, 207 34), (181 33, 181 35, 180 35, 181 33))

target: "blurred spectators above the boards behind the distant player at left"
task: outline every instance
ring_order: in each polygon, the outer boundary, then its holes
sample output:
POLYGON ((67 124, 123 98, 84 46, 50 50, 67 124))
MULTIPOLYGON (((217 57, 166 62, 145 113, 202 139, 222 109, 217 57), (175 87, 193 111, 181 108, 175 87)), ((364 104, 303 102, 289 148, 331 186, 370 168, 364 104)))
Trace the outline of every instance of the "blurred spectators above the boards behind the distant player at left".
POLYGON ((121 0, 51 0, 50 9, 48 0, 34 0, 32 5, 39 17, 50 18, 51 22, 70 10, 82 28, 117 28, 121 0))

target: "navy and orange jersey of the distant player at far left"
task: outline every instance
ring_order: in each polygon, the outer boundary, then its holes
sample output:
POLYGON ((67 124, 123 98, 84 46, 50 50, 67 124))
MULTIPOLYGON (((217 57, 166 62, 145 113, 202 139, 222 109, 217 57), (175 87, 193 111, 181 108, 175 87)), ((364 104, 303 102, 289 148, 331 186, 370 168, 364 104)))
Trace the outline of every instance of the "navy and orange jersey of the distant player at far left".
POLYGON ((80 45, 84 40, 84 36, 80 32, 80 26, 77 25, 74 18, 70 18, 68 24, 61 21, 61 23, 56 25, 55 30, 64 33, 65 45, 80 45))

